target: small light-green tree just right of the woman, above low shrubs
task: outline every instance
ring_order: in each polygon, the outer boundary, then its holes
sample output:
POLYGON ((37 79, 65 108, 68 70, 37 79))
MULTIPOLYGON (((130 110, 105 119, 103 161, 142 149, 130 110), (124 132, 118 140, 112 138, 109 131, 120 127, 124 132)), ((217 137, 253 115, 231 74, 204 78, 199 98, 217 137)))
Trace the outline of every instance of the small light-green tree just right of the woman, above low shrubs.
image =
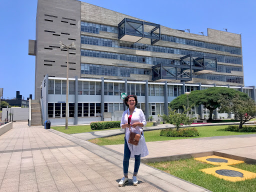
POLYGON ((169 107, 169 114, 163 114, 161 115, 161 117, 163 120, 166 120, 166 122, 173 124, 175 128, 178 130, 182 125, 190 125, 193 122, 193 119, 195 119, 195 117, 190 118, 186 115, 186 112, 189 109, 186 109, 185 106, 183 106, 183 109, 184 111, 182 113, 178 113, 176 112, 176 110, 171 110, 171 108, 169 107))

